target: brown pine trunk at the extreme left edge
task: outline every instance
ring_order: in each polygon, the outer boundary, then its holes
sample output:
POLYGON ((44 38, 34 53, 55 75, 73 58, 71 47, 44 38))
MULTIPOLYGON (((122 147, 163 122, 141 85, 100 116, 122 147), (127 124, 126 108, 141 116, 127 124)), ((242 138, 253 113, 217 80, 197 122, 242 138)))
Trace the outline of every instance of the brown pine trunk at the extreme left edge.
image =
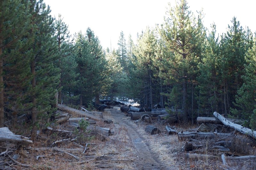
MULTIPOLYGON (((0 46, 2 41, 0 40, 0 46)), ((3 51, 0 48, 0 56, 2 55, 3 51)), ((4 78, 3 78, 3 66, 4 60, 0 58, 0 128, 4 127, 4 78)))

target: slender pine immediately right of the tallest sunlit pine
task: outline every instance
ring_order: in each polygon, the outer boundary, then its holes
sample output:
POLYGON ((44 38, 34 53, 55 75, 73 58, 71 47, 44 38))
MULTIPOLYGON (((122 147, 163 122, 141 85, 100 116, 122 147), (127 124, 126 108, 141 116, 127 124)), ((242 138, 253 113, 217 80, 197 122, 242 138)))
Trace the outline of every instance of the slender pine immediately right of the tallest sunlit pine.
POLYGON ((212 24, 212 31, 204 43, 202 62, 198 65, 200 75, 197 77, 200 90, 197 97, 198 109, 199 111, 204 110, 204 112, 206 110, 211 114, 215 111, 219 112, 218 80, 220 77, 217 74, 219 72, 218 60, 220 60, 220 48, 218 36, 216 37, 216 26, 212 24))

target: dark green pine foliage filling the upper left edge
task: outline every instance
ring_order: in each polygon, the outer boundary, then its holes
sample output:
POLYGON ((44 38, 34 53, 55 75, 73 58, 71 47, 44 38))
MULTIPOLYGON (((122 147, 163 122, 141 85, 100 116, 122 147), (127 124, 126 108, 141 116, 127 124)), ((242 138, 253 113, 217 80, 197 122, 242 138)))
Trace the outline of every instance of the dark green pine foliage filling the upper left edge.
MULTIPOLYGON (((22 101, 29 81, 29 56, 33 39, 28 1, 0 1, 0 127, 4 111, 24 109, 22 101)), ((16 112, 16 113, 15 113, 16 112)))

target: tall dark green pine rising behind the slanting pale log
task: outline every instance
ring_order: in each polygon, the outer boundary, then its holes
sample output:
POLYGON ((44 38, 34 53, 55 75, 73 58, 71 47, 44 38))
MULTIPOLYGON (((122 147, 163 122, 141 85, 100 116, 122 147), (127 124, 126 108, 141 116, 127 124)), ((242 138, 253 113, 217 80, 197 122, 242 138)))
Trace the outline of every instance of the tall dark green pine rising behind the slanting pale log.
MULTIPOLYGON (((220 74, 224 107, 226 116, 230 114, 232 102, 235 101, 237 90, 242 86, 244 75, 246 45, 245 31, 240 27, 239 21, 234 17, 232 25, 228 25, 228 31, 220 40, 220 74)), ((246 47, 247 46, 247 47, 246 47)))

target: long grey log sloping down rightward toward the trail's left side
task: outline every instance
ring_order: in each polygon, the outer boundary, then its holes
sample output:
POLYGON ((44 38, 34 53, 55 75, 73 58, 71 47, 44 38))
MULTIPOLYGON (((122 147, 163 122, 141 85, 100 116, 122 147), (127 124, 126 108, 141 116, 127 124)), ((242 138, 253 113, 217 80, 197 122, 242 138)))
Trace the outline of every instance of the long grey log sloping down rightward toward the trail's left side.
POLYGON ((99 118, 98 116, 90 114, 90 113, 97 113, 97 112, 83 112, 83 111, 76 110, 76 109, 73 109, 71 107, 62 105, 62 104, 58 104, 58 108, 62 109, 63 111, 66 111, 66 112, 75 112, 75 113, 77 113, 79 115, 83 115, 83 116, 86 116, 86 117, 94 119, 94 120, 104 121, 105 123, 111 123, 111 121, 112 121, 112 120, 105 120, 103 118, 99 118))

